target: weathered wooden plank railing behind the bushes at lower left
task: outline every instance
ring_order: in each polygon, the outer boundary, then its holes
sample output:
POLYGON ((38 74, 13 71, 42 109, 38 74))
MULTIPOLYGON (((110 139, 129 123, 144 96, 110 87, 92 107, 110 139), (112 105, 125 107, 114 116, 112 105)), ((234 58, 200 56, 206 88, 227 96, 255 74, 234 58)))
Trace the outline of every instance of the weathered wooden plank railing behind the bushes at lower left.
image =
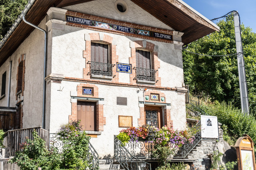
POLYGON ((16 129, 7 131, 4 134, 3 144, 7 149, 8 156, 14 156, 15 152, 20 149, 20 144, 26 142, 26 137, 33 140, 32 132, 36 130, 38 135, 46 142, 46 147, 49 148, 48 131, 42 127, 31 127, 26 129, 16 129))

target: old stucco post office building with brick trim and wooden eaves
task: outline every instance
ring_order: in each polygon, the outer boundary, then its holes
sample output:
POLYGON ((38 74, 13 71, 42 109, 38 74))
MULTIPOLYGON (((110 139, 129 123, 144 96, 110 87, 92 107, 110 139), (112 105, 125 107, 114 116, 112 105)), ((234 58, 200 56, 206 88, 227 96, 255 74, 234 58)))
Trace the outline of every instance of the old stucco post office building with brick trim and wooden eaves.
POLYGON ((186 127, 182 46, 217 25, 181 0, 30 2, 27 21, 47 31, 45 116, 44 33, 21 21, 0 45, 0 106, 16 109, 10 128, 51 134, 81 119, 106 158, 124 127, 186 127))

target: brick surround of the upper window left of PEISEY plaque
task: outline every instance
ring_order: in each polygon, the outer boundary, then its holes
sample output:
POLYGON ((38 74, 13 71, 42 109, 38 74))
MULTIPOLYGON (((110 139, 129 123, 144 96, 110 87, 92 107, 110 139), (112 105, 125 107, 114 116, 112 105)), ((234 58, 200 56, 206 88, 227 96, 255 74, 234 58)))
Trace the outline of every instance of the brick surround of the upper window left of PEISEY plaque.
POLYGON ((86 49, 83 51, 83 57, 85 58, 86 68, 83 69, 83 78, 90 79, 90 64, 91 61, 91 42, 100 42, 108 44, 109 47, 109 63, 115 64, 113 67, 112 82, 119 82, 119 74, 116 72, 116 63, 118 63, 118 56, 116 55, 116 45, 112 44, 113 37, 103 33, 89 33, 85 34, 86 49))

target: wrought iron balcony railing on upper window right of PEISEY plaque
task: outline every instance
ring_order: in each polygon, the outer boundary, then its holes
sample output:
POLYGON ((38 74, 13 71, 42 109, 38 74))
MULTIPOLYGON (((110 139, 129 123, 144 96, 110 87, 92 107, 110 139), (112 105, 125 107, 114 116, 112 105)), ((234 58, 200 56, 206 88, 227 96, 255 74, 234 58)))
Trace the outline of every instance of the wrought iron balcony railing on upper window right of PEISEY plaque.
POLYGON ((136 69, 137 80, 156 81, 157 70, 142 67, 134 67, 134 69, 136 69))

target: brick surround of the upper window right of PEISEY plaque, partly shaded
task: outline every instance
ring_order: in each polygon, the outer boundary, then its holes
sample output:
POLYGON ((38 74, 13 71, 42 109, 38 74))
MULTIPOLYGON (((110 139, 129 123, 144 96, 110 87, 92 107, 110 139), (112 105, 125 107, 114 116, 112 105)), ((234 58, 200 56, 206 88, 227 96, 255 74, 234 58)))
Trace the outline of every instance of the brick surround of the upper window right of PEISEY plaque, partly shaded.
MULTIPOLYGON (((129 63, 132 64, 132 68, 136 67, 136 49, 150 51, 151 53, 151 69, 158 70, 160 68, 160 62, 158 61, 158 47, 153 43, 146 40, 138 40, 130 43, 131 57, 129 63)), ((133 69, 130 74, 130 83, 136 84, 136 71, 133 69)), ((155 86, 161 86, 161 78, 159 77, 158 71, 156 72, 156 84, 155 86)))

